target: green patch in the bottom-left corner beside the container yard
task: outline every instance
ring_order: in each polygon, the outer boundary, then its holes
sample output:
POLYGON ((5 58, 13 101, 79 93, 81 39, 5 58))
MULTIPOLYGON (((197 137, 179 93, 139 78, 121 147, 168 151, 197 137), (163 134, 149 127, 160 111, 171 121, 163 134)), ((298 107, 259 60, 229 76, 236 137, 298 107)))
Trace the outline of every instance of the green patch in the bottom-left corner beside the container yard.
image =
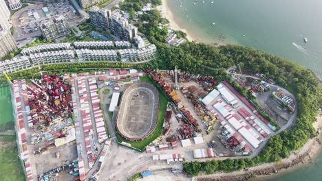
POLYGON ((0 147, 0 180, 25 180, 15 140, 16 136, 0 136, 0 141, 3 143, 0 147))

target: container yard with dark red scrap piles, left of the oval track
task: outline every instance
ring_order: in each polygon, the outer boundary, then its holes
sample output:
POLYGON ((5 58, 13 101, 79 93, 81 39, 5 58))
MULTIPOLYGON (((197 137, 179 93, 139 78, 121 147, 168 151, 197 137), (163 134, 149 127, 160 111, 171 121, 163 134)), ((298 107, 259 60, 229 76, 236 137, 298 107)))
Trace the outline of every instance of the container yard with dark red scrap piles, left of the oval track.
POLYGON ((131 77, 124 79, 131 83, 143 75, 129 72, 47 73, 13 81, 19 154, 28 180, 87 180, 97 174, 110 145, 100 108, 99 77, 116 85, 121 74, 131 77), (96 173, 87 176, 91 168, 96 173))

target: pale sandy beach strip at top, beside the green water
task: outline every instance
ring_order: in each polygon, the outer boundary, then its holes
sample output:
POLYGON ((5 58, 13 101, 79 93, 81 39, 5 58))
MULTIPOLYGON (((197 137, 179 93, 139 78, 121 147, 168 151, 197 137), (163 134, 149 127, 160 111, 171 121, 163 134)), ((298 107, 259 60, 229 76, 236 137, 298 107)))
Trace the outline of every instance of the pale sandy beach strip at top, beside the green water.
POLYGON ((167 20, 169 20, 169 28, 171 28, 171 29, 174 29, 174 30, 180 30, 180 31, 182 31, 182 32, 184 32, 184 33, 186 33, 186 38, 188 39, 188 40, 191 40, 191 41, 196 41, 195 40, 195 38, 193 38, 192 36, 191 36, 191 34, 189 34, 189 32, 188 31, 186 31, 186 29, 184 29, 184 28, 182 28, 182 27, 180 27, 176 22, 175 22, 175 20, 174 20, 174 16, 173 16, 173 14, 172 14, 172 12, 169 10, 169 6, 168 6, 168 2, 167 2, 167 0, 162 0, 162 5, 160 5, 160 9, 159 9, 162 13, 162 15, 163 15, 163 17, 165 18, 165 19, 167 19, 167 20))

